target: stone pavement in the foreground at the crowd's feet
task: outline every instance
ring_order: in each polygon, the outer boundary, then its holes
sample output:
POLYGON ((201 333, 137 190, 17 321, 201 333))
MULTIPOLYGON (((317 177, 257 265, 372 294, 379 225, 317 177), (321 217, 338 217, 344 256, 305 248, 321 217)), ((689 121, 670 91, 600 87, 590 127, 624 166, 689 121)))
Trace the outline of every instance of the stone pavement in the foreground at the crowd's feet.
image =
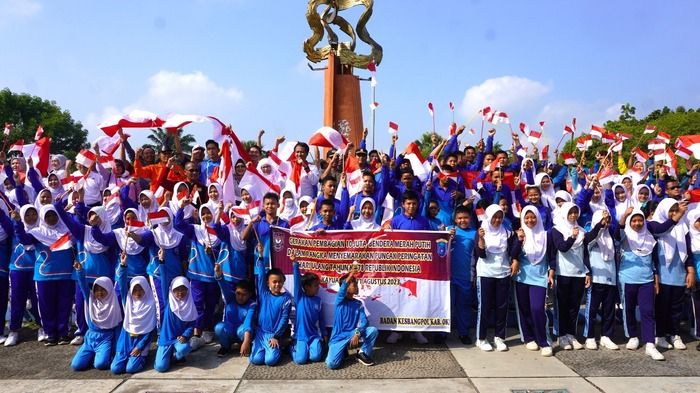
MULTIPOLYGON (((512 331, 512 330, 511 330, 512 331)), ((25 340, 34 333, 22 332, 25 340)), ((559 351, 542 358, 511 337, 510 351, 484 353, 453 338, 447 345, 397 345, 379 340, 377 365, 349 359, 341 370, 323 364, 297 366, 289 356, 277 367, 250 366, 240 357, 216 357, 218 345, 191 354, 168 373, 149 368, 136 375, 108 371, 76 373, 69 368, 76 347, 44 348, 25 341, 0 346, 0 383, 10 392, 700 392, 697 341, 686 351, 667 351, 654 362, 643 350, 559 351)), ((617 342, 623 342, 618 338, 617 342)), ((152 362, 151 362, 152 363, 152 362)))

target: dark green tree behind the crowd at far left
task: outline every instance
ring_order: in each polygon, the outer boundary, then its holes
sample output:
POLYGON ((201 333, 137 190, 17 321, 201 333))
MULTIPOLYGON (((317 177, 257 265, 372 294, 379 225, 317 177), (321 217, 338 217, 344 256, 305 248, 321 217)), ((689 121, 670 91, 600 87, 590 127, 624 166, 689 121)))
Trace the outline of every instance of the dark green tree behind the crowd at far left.
POLYGON ((86 147, 87 130, 55 101, 13 93, 7 88, 0 90, 0 122, 13 124, 12 132, 6 137, 8 144, 19 139, 31 143, 37 127, 41 125, 44 136, 51 138, 52 152, 74 158, 77 152, 86 147))

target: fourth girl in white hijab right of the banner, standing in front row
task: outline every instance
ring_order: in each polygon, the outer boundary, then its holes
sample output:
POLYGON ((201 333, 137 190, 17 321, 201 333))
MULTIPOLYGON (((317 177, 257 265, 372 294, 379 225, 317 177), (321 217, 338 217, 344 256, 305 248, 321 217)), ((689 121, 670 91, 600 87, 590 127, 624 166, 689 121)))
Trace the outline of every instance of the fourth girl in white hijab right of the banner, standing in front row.
POLYGON ((586 296, 586 320, 583 335, 586 337, 586 349, 598 349, 595 340, 595 320, 598 309, 602 310, 600 345, 607 349, 619 349, 612 341, 615 323, 615 302, 617 299, 617 272, 615 270, 615 245, 613 235, 617 232, 616 224, 607 210, 593 213, 591 230, 587 242, 592 284, 586 296), (602 307, 601 307, 602 305, 602 307))

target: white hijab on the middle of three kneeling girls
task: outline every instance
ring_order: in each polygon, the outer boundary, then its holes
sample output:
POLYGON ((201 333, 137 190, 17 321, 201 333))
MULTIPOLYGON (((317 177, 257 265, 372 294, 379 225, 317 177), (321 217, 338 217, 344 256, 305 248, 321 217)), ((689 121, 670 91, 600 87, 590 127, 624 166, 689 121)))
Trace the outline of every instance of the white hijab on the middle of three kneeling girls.
POLYGON ((148 334, 156 328, 156 302, 153 291, 143 276, 131 279, 129 293, 126 295, 124 306, 124 330, 130 334, 148 334), (143 289, 143 297, 136 300, 131 295, 134 287, 139 285, 143 289))

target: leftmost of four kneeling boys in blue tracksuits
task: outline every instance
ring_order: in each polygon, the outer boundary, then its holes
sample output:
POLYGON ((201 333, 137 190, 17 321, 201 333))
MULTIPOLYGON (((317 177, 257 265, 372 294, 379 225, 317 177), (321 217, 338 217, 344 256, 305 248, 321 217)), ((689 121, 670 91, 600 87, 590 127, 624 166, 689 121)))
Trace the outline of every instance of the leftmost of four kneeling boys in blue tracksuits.
POLYGON ((256 307, 255 301, 251 299, 253 286, 245 279, 235 284, 224 280, 224 272, 220 264, 214 265, 214 274, 226 305, 223 321, 214 327, 216 339, 221 344, 217 356, 227 355, 234 341, 241 343, 241 356, 248 356, 253 342, 253 316, 256 307), (231 289, 232 285, 235 291, 231 289))

